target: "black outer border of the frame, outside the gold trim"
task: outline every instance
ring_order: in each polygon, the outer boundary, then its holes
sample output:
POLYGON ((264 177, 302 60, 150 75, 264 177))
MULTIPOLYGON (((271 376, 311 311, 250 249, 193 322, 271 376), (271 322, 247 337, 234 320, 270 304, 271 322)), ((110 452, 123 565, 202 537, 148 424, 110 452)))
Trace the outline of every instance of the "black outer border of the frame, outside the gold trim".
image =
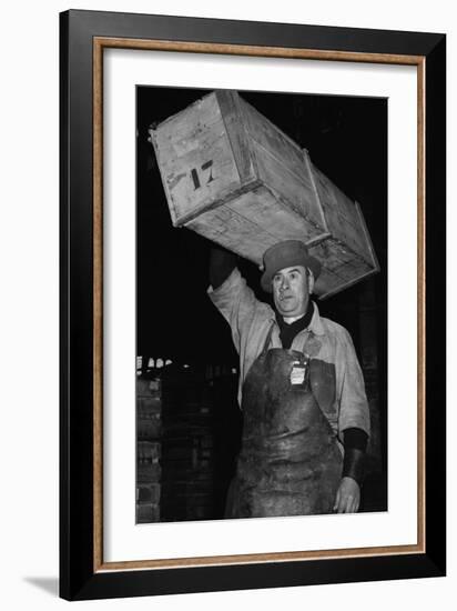
POLYGON ((60 14, 60 595, 67 600, 440 577, 446 571, 446 37, 71 10, 60 14), (95 572, 93 38, 425 59, 425 553, 95 572))

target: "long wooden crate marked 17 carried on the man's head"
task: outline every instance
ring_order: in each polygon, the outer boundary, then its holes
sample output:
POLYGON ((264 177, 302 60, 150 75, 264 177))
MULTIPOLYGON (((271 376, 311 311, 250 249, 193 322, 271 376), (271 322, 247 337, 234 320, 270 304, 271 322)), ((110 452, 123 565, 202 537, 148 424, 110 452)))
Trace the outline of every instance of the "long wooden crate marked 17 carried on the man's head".
POLYGON ((378 271, 359 206, 235 91, 210 93, 150 133, 175 227, 256 264, 278 241, 303 240, 323 264, 321 299, 378 271))

